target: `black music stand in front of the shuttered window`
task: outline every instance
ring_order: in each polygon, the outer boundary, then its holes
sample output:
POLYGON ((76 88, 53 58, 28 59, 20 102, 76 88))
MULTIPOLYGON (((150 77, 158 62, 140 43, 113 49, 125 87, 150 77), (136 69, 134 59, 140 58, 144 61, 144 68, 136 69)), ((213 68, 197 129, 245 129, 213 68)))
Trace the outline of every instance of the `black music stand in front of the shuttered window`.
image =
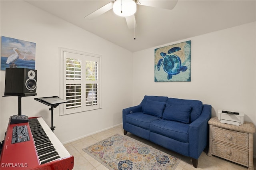
POLYGON ((40 97, 40 98, 34 98, 36 101, 39 101, 41 103, 44 103, 47 106, 51 106, 49 111, 52 113, 52 127, 51 130, 55 129, 53 126, 53 108, 56 108, 61 103, 67 103, 67 101, 60 99, 58 96, 52 96, 52 97, 40 97))

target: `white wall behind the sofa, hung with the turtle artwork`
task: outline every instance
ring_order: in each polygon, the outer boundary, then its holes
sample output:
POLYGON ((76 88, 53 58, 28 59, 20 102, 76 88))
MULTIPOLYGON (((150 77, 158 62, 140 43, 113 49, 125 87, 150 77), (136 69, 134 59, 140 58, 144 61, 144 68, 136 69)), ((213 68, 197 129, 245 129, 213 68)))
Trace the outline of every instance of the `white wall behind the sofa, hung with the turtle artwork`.
MULTIPOLYGON (((191 82, 154 82, 154 48, 133 54, 133 105, 144 95, 196 99, 218 109, 244 112, 256 123, 256 22, 191 40, 191 82)), ((161 45, 171 45, 174 43, 161 45)), ((254 135, 254 154, 256 136, 254 135)))

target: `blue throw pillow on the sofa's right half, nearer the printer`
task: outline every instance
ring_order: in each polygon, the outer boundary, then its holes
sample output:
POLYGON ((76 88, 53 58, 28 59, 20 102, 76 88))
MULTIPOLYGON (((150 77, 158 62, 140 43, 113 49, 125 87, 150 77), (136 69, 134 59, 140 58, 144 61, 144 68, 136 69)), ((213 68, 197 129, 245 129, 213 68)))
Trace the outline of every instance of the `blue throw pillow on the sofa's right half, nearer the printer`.
POLYGON ((168 121, 176 121, 180 123, 190 123, 190 105, 170 105, 166 104, 163 113, 163 119, 168 121))

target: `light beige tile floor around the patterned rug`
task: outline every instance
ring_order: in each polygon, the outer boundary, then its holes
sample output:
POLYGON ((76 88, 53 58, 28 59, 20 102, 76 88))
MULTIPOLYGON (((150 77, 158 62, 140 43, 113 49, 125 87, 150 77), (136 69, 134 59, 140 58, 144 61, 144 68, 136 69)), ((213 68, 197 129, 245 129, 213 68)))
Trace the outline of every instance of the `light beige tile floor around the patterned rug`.
MULTIPOLYGON (((97 160, 89 156, 86 152, 84 152, 82 148, 86 148, 87 146, 90 146, 96 142, 104 140, 105 138, 108 138, 114 134, 124 135, 122 125, 119 125, 117 127, 105 130, 103 132, 99 132, 97 134, 93 134, 91 136, 65 144, 64 145, 65 148, 68 150, 68 152, 71 155, 74 156, 73 170, 108 170, 108 168, 106 168, 100 162, 98 162, 97 160)), ((173 156, 176 156, 177 158, 180 158, 181 160, 176 170, 202 170, 202 169, 203 170, 246 170, 247 169, 247 167, 245 166, 230 162, 228 160, 224 160, 222 158, 218 158, 216 156, 210 157, 207 155, 207 152, 208 152, 207 149, 204 152, 202 152, 201 156, 199 157, 198 168, 194 168, 189 157, 182 156, 181 154, 167 150, 162 146, 154 144, 148 140, 144 140, 129 132, 127 133, 127 136, 130 136, 131 138, 144 142, 145 144, 148 144, 154 148, 157 148, 158 150, 162 150, 163 152, 169 153, 173 156)), ((255 165, 256 165, 256 159, 254 158, 254 169, 256 170, 255 165)))

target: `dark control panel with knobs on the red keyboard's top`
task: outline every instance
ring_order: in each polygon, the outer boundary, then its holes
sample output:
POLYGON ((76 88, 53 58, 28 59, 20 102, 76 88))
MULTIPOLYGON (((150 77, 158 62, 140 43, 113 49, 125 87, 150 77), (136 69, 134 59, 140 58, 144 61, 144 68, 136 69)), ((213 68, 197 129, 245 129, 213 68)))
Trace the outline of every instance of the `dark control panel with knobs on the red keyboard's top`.
POLYGON ((28 127, 26 125, 23 126, 15 126, 12 130, 12 144, 25 142, 29 139, 28 127))

